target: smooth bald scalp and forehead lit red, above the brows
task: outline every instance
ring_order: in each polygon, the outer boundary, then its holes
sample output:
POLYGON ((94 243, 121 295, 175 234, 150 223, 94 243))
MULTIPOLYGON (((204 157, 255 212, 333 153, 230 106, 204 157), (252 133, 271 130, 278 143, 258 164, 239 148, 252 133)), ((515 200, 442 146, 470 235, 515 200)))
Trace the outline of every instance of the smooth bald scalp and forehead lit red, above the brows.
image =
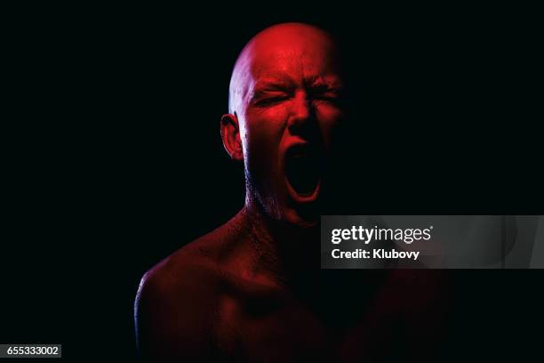
POLYGON ((229 112, 239 114, 244 109, 258 77, 279 77, 293 66, 300 70, 297 76, 301 78, 316 77, 316 70, 309 64, 314 60, 324 63, 320 65, 323 68, 318 70, 320 73, 338 71, 336 44, 323 29, 284 23, 262 30, 245 45, 236 60, 230 78, 229 112), (293 65, 293 61, 299 64, 293 65))

